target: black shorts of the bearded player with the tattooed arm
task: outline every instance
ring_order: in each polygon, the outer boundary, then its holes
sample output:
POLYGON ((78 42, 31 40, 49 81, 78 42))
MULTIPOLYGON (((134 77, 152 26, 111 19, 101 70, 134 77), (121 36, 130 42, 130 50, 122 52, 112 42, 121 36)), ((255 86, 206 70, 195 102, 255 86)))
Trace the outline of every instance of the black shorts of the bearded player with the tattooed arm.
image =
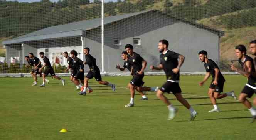
POLYGON ((170 81, 167 81, 165 84, 163 84, 163 86, 160 88, 160 91, 167 93, 172 92, 174 95, 176 93, 181 93, 179 83, 170 81))

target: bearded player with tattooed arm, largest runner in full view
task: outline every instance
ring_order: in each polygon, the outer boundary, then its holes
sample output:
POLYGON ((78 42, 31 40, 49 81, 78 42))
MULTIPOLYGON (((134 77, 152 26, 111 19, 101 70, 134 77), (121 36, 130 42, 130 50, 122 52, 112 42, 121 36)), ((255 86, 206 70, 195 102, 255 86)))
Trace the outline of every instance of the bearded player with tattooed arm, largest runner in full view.
POLYGON ((195 120, 197 112, 189 105, 187 100, 182 97, 179 86, 180 81, 180 67, 182 66, 185 57, 179 53, 168 50, 169 43, 167 40, 160 40, 158 43, 158 51, 160 55, 160 64, 158 66, 150 66, 150 69, 164 70, 167 82, 157 91, 157 97, 161 99, 168 107, 168 120, 172 120, 178 109, 174 107, 169 100, 163 95, 164 92, 172 92, 176 99, 183 104, 190 111, 190 121, 195 120), (178 61, 179 59, 179 61, 178 61))

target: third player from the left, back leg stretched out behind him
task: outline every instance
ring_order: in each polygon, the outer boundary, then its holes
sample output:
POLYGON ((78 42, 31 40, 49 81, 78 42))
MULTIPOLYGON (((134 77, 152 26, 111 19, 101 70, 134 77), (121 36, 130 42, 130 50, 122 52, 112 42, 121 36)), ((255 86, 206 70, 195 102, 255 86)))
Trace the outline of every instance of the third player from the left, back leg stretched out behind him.
POLYGON ((61 80, 62 85, 64 86, 64 85, 65 85, 65 80, 64 80, 64 79, 61 79, 60 77, 58 77, 58 76, 55 75, 54 70, 53 70, 53 68, 52 68, 52 66, 51 66, 51 63, 50 63, 49 59, 48 59, 46 56, 44 56, 44 52, 40 52, 39 55, 40 55, 40 58, 42 58, 42 59, 44 60, 44 64, 43 64, 43 66, 39 69, 39 72, 41 72, 42 69, 45 67, 44 72, 42 72, 42 74, 43 74, 43 84, 41 84, 40 87, 45 87, 45 79, 46 79, 45 77, 46 77, 49 73, 51 74, 51 76, 52 76, 53 78, 58 79, 58 80, 61 80))

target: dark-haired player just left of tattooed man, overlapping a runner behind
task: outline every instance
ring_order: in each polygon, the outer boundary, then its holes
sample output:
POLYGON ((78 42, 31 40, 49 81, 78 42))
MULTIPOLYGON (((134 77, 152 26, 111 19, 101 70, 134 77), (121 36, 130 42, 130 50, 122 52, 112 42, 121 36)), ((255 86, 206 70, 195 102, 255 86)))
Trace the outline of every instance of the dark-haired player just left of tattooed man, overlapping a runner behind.
POLYGON ((133 76, 129 83, 129 89, 131 94, 130 103, 125 105, 125 107, 133 107, 135 88, 139 93, 142 92, 142 85, 144 84, 144 70, 147 66, 147 61, 145 61, 139 54, 133 52, 133 46, 131 44, 127 44, 125 46, 125 49, 126 52, 129 54, 128 63, 131 64, 131 75, 133 76))

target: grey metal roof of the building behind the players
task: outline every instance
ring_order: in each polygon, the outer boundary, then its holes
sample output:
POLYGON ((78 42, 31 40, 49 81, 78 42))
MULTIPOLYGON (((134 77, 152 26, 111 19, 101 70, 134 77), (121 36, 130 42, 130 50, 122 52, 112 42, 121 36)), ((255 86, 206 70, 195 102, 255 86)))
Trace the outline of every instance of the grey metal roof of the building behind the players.
MULTIPOLYGON (((104 25, 109 24, 115 21, 123 20, 125 18, 129 18, 131 16, 140 15, 146 12, 159 12, 164 15, 167 15, 158 10, 145 10, 136 13, 129 13, 117 16, 109 16, 104 18, 104 25)), ((167 15, 169 16, 169 15, 167 15)), ((174 17, 173 17, 174 18, 174 17)), ((176 18, 179 19, 179 18, 176 18)), ((221 34, 221 31, 195 23, 189 22, 182 19, 179 19, 182 22, 189 23, 191 25, 197 26, 199 28, 204 28, 205 30, 211 31, 213 33, 221 34)), ((2 44, 13 44, 13 43, 22 43, 25 41, 36 41, 36 40, 45 40, 45 39, 52 39, 52 38, 60 38, 60 37, 71 37, 71 36, 81 36, 83 31, 90 30, 93 28, 97 28, 101 26, 101 18, 93 19, 93 20, 84 20, 79 22, 73 22, 64 25, 57 25, 48 28, 44 28, 38 31, 34 31, 27 35, 19 36, 17 38, 13 38, 12 40, 3 41, 2 44)))

